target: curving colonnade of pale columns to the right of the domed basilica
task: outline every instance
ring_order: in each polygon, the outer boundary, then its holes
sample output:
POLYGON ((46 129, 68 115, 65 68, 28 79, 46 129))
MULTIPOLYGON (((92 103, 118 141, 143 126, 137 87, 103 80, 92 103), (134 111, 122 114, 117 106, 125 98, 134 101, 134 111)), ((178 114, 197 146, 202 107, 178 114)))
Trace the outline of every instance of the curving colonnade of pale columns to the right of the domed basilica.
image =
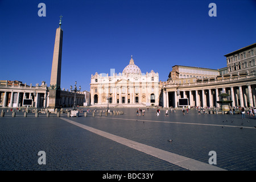
POLYGON ((178 107, 179 98, 188 98, 189 106, 220 107, 217 101, 221 93, 228 93, 230 106, 256 107, 256 84, 203 86, 201 88, 163 89, 163 107, 178 107))

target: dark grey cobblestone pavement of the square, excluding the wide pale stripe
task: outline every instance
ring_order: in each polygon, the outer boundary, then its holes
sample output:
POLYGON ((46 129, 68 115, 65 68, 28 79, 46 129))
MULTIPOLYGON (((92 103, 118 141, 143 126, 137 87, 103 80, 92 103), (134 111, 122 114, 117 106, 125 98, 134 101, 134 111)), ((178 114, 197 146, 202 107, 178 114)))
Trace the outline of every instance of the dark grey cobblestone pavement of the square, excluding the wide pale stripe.
MULTIPOLYGON (((68 118, 110 134, 208 164, 209 151, 216 151, 217 164, 227 170, 256 169, 256 119, 246 115, 182 114, 180 110, 165 116, 161 110, 146 109, 143 116, 136 108, 122 115, 68 118), (242 127, 242 129, 241 129, 242 127), (172 139, 172 142, 168 142, 172 139)), ((67 114, 61 114, 67 118, 67 114)), ((0 118, 0 170, 187 170, 144 154, 88 130, 72 125, 56 114, 5 113, 0 118), (39 165, 39 151, 46 152, 46 164, 39 165)))

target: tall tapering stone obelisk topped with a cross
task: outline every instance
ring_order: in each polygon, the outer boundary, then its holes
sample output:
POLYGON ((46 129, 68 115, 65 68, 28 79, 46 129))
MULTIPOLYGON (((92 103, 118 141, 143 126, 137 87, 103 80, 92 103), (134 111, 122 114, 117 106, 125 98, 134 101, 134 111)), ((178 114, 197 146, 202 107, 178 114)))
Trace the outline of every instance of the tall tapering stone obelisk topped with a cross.
MULTIPOLYGON (((60 15, 60 23, 61 26, 60 15)), ((60 76, 61 76, 61 54, 62 54, 62 41, 63 30, 57 28, 55 36, 55 44, 52 58, 52 72, 51 81, 49 86, 49 109, 55 109, 60 107, 60 76)))

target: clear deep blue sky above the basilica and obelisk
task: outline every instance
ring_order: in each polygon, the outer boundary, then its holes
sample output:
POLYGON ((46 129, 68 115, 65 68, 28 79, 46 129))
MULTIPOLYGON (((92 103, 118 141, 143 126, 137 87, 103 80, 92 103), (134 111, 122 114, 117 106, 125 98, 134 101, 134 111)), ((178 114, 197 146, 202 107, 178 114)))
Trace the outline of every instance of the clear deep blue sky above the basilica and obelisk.
POLYGON ((223 68, 226 53, 256 42, 253 0, 0 0, 0 80, 49 85, 60 15, 65 89, 77 81, 89 90, 92 74, 122 72, 131 55, 162 81, 174 65, 223 68), (216 17, 208 15, 212 2, 216 17))

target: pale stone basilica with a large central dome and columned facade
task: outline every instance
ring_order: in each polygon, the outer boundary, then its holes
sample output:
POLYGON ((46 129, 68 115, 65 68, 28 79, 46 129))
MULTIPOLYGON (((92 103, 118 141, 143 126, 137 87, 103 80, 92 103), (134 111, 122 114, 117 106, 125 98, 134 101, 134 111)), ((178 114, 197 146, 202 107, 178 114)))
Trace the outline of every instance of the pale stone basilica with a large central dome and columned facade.
POLYGON ((122 73, 92 75, 90 97, 93 106, 158 106, 159 75, 142 73, 131 56, 122 73))

